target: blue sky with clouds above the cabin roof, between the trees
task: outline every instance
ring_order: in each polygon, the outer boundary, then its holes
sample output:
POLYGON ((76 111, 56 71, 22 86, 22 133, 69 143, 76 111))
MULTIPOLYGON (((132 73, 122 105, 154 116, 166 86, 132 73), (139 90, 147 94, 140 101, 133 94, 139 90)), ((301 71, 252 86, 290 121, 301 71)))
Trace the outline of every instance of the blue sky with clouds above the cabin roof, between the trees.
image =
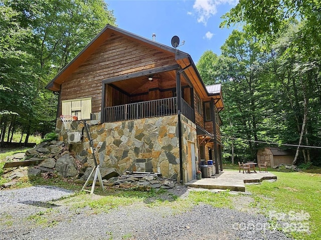
POLYGON ((179 49, 196 63, 206 50, 220 54, 232 28, 219 28, 220 18, 237 0, 105 0, 118 27, 171 46, 174 35, 185 44, 179 49))

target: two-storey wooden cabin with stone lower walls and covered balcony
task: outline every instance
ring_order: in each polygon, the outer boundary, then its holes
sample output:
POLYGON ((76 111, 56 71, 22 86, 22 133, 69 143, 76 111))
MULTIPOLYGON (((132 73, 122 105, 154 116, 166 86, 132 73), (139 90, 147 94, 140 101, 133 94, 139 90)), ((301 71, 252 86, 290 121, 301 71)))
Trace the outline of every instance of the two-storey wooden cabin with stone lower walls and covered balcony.
MULTIPOLYGON (((61 114, 87 120, 102 167, 182 182, 196 178, 201 159, 222 170, 221 85, 205 86, 183 51, 106 25, 47 88, 59 93, 60 139, 83 127, 64 129, 61 114)), ((70 144, 90 163, 88 147, 86 135, 70 144)))

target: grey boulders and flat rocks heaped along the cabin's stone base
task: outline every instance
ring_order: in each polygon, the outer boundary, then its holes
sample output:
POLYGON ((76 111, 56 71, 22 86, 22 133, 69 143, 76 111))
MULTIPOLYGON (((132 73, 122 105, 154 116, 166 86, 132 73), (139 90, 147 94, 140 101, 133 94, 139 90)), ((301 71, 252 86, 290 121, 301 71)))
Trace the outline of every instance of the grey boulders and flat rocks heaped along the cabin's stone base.
MULTIPOLYGON (((4 177, 12 181, 3 184, 8 187, 17 183, 18 179, 25 176, 42 174, 49 178, 57 172, 64 177, 74 177, 75 180, 86 181, 93 167, 87 163, 88 154, 74 155, 68 151, 64 141, 44 141, 29 149, 26 153, 16 153, 7 157, 6 161, 34 160, 40 162, 34 166, 20 166, 5 168, 4 177), (7 170, 8 169, 8 170, 7 170)), ((104 185, 119 188, 173 188, 175 180, 158 176, 121 177, 117 168, 100 167, 104 185)), ((93 176, 92 179, 93 180, 93 176)))

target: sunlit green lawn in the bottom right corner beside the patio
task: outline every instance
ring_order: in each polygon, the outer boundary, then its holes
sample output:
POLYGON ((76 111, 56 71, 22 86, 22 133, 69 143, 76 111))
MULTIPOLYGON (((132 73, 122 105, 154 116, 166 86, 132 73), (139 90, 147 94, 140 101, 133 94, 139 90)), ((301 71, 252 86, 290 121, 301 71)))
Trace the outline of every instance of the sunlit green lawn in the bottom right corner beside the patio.
POLYGON ((295 239, 320 239, 321 236, 321 174, 306 172, 273 172, 277 181, 263 181, 248 185, 252 192, 253 206, 266 216, 274 211, 271 222, 281 230, 288 230, 295 239), (306 214, 308 213, 308 214, 306 214), (295 217, 300 217, 296 220, 295 217), (277 218, 293 217, 292 221, 277 223, 277 218), (309 229, 310 234, 304 230, 309 229), (292 231, 293 230, 293 231, 292 231), (298 230, 298 231, 295 231, 298 230), (300 232, 300 230, 303 230, 300 232))

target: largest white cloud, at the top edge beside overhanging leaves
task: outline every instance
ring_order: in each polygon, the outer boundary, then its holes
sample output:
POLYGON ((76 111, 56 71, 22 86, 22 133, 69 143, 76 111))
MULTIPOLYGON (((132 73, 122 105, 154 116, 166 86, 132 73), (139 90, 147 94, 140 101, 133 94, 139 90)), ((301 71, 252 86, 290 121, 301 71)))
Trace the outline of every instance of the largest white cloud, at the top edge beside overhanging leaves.
POLYGON ((217 13, 217 6, 226 3, 236 5, 238 0, 195 0, 193 8, 198 14, 197 21, 206 25, 207 20, 217 13))

